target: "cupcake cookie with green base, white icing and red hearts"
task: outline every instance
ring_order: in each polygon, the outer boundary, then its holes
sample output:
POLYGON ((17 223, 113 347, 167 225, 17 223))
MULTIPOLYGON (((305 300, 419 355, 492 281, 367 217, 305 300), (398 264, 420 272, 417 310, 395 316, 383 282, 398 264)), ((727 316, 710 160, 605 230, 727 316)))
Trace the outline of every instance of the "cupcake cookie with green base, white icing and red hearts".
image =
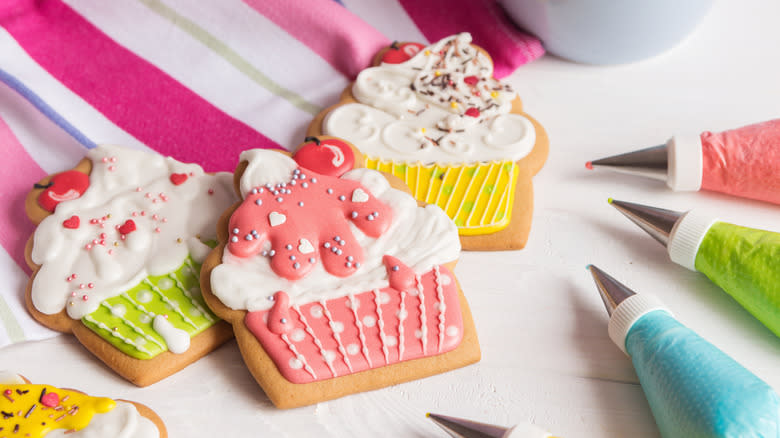
POLYGON ((232 176, 118 146, 90 150, 27 197, 27 308, 145 386, 230 339, 200 264, 234 201, 232 176))

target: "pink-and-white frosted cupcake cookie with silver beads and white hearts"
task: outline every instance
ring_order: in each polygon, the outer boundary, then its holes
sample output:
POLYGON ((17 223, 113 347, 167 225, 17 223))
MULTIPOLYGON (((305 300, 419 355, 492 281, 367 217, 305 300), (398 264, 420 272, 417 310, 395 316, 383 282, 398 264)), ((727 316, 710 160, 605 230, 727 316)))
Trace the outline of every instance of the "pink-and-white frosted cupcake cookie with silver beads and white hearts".
POLYGON ((479 360, 451 271, 455 225, 356 162, 354 148, 332 137, 312 138, 294 157, 242 153, 243 201, 222 216, 203 265, 206 303, 233 325, 280 408, 479 360))

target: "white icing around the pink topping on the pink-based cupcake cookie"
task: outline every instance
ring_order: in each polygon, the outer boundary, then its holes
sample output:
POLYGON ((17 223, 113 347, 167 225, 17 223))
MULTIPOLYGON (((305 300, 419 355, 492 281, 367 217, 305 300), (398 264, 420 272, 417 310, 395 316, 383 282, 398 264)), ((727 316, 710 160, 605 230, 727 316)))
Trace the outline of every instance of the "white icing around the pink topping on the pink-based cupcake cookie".
MULTIPOLYGON (((262 168, 288 167, 292 161, 273 151, 256 153, 252 159, 257 160, 251 165, 260 175, 265 174, 262 168)), ((288 181, 291 174, 281 181, 288 181)), ((303 305, 381 289, 388 285, 382 262, 384 255, 397 257, 418 274, 457 259, 460 253, 457 228, 439 207, 418 207, 410 195, 391 188, 385 177, 373 170, 351 170, 342 178, 359 181, 393 211, 392 224, 378 238, 366 236, 350 222, 350 229, 364 251, 363 265, 351 276, 343 278, 329 274, 319 263, 305 277, 290 281, 271 269, 268 257, 260 254, 250 258, 237 257, 226 247, 222 264, 211 273, 212 290, 222 303, 232 309, 256 311, 270 308, 273 302, 268 297, 279 290, 287 293, 291 305, 303 305)), ((241 185, 257 186, 252 174, 244 174, 241 185)))

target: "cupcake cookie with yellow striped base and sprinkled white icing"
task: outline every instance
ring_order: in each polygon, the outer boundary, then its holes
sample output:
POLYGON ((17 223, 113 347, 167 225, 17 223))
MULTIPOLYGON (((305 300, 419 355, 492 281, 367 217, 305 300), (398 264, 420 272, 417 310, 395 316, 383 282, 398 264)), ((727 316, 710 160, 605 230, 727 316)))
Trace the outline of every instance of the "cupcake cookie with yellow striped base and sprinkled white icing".
POLYGON ((467 33, 428 46, 394 44, 363 70, 310 135, 342 137, 362 166, 392 173, 420 201, 441 207, 464 249, 518 249, 531 227, 531 178, 547 134, 517 94, 493 78, 467 33))

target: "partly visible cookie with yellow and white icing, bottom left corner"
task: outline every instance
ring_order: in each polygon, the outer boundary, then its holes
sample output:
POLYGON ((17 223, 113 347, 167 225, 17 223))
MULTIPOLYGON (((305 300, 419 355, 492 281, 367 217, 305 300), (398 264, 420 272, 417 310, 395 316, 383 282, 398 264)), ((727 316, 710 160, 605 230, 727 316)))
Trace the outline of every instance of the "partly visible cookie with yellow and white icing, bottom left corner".
POLYGON ((166 438, 168 432, 160 417, 140 403, 34 385, 0 371, 0 436, 166 438))

